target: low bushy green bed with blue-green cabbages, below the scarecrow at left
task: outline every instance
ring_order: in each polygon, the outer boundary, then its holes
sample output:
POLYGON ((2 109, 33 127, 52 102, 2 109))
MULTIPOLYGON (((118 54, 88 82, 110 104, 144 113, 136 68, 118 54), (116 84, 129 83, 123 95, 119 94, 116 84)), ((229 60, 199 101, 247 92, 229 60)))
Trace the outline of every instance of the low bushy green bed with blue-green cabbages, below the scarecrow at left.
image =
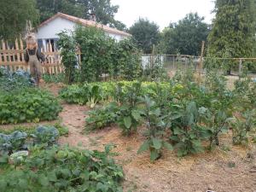
POLYGON ((28 73, 0 68, 0 125, 53 120, 60 112, 55 96, 35 87, 28 73))

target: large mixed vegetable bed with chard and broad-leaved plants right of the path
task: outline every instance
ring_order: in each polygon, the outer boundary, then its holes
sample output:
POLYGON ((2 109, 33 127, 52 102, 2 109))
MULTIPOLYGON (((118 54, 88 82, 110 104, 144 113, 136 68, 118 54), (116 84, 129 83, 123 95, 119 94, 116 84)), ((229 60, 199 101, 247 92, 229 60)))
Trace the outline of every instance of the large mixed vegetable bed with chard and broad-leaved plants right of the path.
POLYGON ((192 73, 177 73, 164 83, 92 83, 61 90, 67 102, 92 108, 99 102, 86 119, 87 130, 117 124, 130 136, 146 126, 138 152, 149 150, 151 160, 160 158, 163 148, 175 148, 183 156, 218 146, 219 136, 230 130, 234 144, 255 141, 255 94, 251 79, 241 78, 229 90, 218 73, 208 73, 201 83, 192 73))

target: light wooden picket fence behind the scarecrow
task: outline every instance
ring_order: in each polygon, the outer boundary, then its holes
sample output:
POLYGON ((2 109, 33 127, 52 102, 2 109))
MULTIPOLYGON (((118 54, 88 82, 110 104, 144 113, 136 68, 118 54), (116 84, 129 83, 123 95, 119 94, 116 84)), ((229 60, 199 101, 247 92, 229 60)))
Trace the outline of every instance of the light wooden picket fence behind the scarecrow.
MULTIPOLYGON (((30 67, 26 64, 25 48, 21 39, 16 39, 15 44, 8 44, 2 41, 0 43, 0 67, 7 67, 10 71, 15 72, 18 69, 29 71, 30 67), (1 44, 2 43, 2 44, 1 44)), ((47 44, 46 49, 41 49, 45 55, 46 61, 42 65, 43 73, 58 74, 64 70, 61 64, 61 55, 59 51, 53 51, 52 45, 47 44)))

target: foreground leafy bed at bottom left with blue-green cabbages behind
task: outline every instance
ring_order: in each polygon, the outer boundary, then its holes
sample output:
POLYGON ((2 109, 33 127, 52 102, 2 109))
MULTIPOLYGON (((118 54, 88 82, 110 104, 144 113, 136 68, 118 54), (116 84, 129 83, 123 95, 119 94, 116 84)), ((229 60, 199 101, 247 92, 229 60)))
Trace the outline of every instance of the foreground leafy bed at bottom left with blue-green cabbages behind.
POLYGON ((57 145, 54 126, 0 133, 0 189, 3 191, 121 191, 124 173, 111 146, 89 151, 57 145))

